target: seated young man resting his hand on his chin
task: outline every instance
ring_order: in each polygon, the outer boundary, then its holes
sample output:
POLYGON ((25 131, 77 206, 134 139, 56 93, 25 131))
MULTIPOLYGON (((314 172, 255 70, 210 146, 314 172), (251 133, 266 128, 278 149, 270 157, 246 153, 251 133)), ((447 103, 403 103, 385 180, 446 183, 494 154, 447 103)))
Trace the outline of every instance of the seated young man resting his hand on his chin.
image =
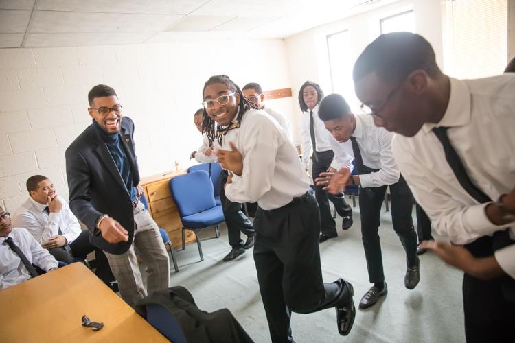
POLYGON ((58 196, 54 183, 46 176, 27 179, 29 198, 12 217, 15 227, 25 228, 58 261, 67 264, 95 252, 96 274, 108 284, 115 281, 106 255, 89 241, 87 230, 81 230, 77 217, 67 202, 58 196))

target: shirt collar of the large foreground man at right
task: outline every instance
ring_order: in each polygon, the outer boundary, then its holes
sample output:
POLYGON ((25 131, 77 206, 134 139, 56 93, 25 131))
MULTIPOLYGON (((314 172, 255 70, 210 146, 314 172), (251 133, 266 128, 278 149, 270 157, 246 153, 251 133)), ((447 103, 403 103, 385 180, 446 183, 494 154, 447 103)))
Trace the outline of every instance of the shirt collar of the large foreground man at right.
POLYGON ((422 126, 424 132, 428 133, 439 126, 464 126, 470 123, 472 117, 470 106, 470 91, 465 82, 455 78, 450 79, 450 97, 444 117, 439 123, 425 123, 422 126))

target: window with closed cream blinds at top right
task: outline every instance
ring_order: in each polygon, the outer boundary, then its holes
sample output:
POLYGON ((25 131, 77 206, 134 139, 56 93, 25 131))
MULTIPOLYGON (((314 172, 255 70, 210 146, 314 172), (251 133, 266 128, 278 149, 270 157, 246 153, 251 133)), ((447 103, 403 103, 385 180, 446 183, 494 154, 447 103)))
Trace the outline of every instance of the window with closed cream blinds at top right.
POLYGON ((444 69, 454 78, 503 73, 507 60, 507 0, 442 3, 444 69))

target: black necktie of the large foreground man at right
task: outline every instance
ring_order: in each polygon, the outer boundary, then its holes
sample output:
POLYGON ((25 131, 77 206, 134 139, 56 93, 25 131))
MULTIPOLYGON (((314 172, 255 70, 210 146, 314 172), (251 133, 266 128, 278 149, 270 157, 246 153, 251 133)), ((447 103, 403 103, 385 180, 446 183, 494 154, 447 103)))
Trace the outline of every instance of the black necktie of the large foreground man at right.
MULTIPOLYGON (((467 193, 470 194, 470 196, 472 196, 472 198, 474 198, 481 204, 485 202, 491 202, 492 199, 485 193, 483 193, 483 191, 481 191, 481 189, 474 185, 474 182, 470 180, 470 177, 468 176, 463 163, 461 163, 461 159, 459 158, 453 145, 450 144, 450 140, 447 135, 447 130, 448 127, 446 126, 433 128, 433 132, 435 132, 436 137, 444 146, 445 158, 450 166, 450 169, 453 169, 453 173, 458 179, 459 184, 461 185, 461 187, 465 189, 467 193)), ((508 245, 510 245, 510 235, 508 233, 508 230, 497 231, 496 233, 494 233, 494 250, 504 248, 508 245)))

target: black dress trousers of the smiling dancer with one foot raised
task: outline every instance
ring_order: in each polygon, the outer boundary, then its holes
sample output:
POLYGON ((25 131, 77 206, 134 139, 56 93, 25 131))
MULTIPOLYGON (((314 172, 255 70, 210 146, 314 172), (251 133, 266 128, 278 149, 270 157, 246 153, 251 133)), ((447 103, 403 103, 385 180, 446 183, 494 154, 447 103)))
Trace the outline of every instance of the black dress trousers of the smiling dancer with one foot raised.
POLYGON ((291 312, 308 314, 349 304, 343 279, 323 283, 317 201, 309 195, 279 209, 258 207, 254 219, 255 268, 258 272, 272 342, 292 342, 291 312))

